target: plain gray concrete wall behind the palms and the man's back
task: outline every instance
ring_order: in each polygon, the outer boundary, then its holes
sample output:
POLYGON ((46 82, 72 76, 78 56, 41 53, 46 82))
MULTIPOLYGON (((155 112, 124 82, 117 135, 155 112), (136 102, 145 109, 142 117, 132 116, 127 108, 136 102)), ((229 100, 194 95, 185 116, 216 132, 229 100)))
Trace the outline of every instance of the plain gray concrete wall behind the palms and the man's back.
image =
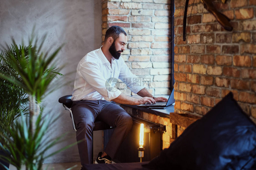
MULTIPOLYGON (((88 52, 101 46, 101 0, 1 0, 0 1, 0 44, 10 44, 11 38, 21 44, 21 39, 28 42, 28 36, 35 25, 39 37, 47 33, 44 49, 56 49, 65 43, 58 54, 57 66, 63 66, 61 71, 65 76, 62 88, 46 96, 43 104, 44 114, 61 115, 48 132, 46 139, 54 138, 63 133, 66 141, 57 145, 51 151, 67 144, 76 142, 69 114, 58 98, 71 94, 77 63, 88 52), (68 74, 70 73, 70 74, 68 74)), ((94 137, 102 141, 102 133, 94 137)), ((96 144, 95 149, 101 150, 102 144, 96 144)), ((98 151, 96 151, 98 152, 98 151)), ((47 153, 46 153, 47 154, 47 153)), ((77 145, 47 159, 45 163, 80 161, 77 145)))

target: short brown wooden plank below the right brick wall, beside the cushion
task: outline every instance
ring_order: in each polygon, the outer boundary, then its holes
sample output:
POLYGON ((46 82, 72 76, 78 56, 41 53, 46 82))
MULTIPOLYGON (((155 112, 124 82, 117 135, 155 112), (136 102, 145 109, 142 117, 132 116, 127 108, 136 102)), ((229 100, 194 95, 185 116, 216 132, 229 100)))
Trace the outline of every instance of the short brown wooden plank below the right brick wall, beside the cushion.
POLYGON ((191 114, 178 114, 178 113, 170 113, 170 123, 175 125, 179 125, 187 128, 191 123, 200 119, 201 117, 191 114))

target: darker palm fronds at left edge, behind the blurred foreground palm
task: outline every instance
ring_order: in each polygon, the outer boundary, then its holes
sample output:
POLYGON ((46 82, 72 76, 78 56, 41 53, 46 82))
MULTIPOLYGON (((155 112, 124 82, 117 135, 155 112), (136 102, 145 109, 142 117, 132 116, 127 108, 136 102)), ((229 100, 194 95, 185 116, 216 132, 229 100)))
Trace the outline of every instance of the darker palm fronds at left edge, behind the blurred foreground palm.
MULTIPOLYGON (((27 47, 21 48, 24 48, 25 51, 28 49, 27 47)), ((10 49, 11 51, 7 50, 0 54, 0 71, 11 77, 11 73, 15 73, 15 70, 5 62, 8 55, 13 53, 14 47, 12 46, 10 49)), ((16 54, 13 54, 16 57, 16 54)), ((15 121, 20 117, 20 112, 23 112, 24 115, 28 113, 28 97, 21 87, 2 78, 0 78, 0 87, 0 133, 6 133, 7 136, 10 136, 6 131, 6 128, 9 127, 15 129, 15 121)), ((0 141, 1 140, 3 139, 0 139, 0 141)), ((8 156, 8 152, 5 149, 5 145, 3 146, 3 149, 0 148, 0 157, 1 155, 8 156)), ((8 161, 3 161, 2 163, 9 167, 8 161)), ((3 169, 1 163, 0 169, 3 169)))

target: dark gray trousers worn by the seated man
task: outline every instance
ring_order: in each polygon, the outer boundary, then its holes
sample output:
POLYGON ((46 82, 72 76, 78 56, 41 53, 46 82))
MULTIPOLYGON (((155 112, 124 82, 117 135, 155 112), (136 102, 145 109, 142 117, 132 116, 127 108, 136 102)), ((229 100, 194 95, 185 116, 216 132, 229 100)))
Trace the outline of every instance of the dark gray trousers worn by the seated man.
POLYGON ((115 127, 105 148, 111 158, 132 128, 132 117, 120 106, 105 100, 73 101, 71 107, 77 129, 77 146, 82 166, 91 163, 94 121, 115 127))

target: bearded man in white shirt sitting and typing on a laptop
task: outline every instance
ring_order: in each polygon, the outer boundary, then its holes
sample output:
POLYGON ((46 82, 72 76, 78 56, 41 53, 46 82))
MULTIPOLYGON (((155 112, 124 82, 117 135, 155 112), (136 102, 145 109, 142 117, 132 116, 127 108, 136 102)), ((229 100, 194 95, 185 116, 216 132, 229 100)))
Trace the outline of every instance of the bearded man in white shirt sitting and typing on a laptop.
POLYGON ((105 150, 99 153, 95 163, 111 163, 118 147, 132 128, 132 117, 114 102, 139 105, 167 101, 163 97, 155 98, 144 87, 134 83, 127 83, 127 86, 142 98, 127 96, 115 88, 115 81, 110 80, 137 78, 120 57, 126 44, 127 34, 124 29, 112 26, 106 31, 103 46, 86 54, 78 63, 71 109, 77 129, 82 169, 92 160, 92 134, 96 118, 115 128, 105 150))

